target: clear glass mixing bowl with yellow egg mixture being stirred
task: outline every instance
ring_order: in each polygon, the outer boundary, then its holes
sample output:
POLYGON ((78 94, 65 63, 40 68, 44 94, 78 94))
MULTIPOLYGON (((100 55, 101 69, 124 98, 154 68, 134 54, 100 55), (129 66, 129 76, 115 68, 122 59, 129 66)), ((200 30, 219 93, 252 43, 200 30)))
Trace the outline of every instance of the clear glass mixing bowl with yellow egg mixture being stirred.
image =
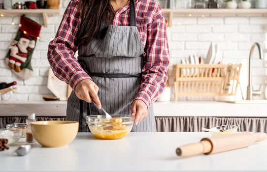
POLYGON ((114 140, 127 136, 134 125, 134 117, 131 115, 90 115, 86 117, 86 123, 91 133, 98 139, 114 140))

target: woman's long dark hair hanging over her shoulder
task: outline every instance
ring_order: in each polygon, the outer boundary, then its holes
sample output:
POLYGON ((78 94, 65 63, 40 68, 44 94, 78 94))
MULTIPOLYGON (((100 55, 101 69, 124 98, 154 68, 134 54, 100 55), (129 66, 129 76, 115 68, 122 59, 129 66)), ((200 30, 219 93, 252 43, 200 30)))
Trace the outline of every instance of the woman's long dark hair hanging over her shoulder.
POLYGON ((109 0, 80 0, 81 24, 79 28, 79 45, 98 36, 101 22, 113 21, 114 12, 109 0))

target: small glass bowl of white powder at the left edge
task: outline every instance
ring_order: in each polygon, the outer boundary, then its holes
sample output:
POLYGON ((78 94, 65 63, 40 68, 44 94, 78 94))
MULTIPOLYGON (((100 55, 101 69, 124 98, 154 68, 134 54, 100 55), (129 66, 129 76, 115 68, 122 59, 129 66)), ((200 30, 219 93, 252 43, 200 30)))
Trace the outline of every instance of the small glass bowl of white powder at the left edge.
POLYGON ((8 128, 3 128, 0 129, 0 138, 2 139, 7 139, 7 145, 12 145, 15 144, 19 141, 23 133, 22 129, 8 129, 8 128))

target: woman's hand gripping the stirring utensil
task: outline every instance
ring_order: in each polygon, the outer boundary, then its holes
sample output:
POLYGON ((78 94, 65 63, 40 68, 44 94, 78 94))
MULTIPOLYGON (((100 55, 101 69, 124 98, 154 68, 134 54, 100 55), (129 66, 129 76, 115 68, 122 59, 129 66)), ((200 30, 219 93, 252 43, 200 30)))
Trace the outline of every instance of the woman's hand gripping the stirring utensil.
POLYGON ((75 94, 79 99, 84 100, 87 103, 94 101, 97 104, 98 108, 101 109, 98 90, 99 87, 92 80, 86 79, 82 80, 75 87, 75 94))

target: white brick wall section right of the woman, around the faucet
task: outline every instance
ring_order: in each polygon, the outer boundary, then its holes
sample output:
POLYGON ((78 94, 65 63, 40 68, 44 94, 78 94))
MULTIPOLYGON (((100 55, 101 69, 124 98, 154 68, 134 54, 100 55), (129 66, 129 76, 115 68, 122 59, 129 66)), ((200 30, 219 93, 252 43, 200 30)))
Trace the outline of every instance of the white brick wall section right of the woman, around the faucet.
MULTIPOLYGON (((179 63, 181 58, 189 55, 205 57, 211 41, 219 45, 224 63, 242 63, 240 82, 245 95, 249 51, 254 42, 259 42, 262 48, 266 48, 267 17, 175 16, 173 27, 167 31, 172 64, 179 63)), ((262 85, 261 90, 264 91, 267 84, 267 62, 259 59, 257 51, 253 58, 253 85, 255 89, 262 85)))

